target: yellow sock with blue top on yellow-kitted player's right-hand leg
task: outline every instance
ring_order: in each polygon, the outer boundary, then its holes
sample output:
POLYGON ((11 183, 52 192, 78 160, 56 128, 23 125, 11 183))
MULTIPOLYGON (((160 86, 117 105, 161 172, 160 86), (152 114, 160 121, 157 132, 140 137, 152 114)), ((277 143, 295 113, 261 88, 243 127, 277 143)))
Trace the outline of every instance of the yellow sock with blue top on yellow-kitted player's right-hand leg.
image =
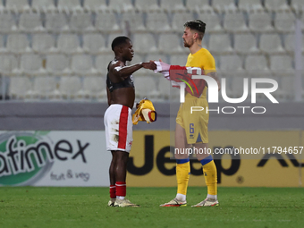
POLYGON ((203 172, 205 177, 205 182, 207 184, 207 193, 209 195, 217 195, 217 173, 215 162, 211 162, 203 165, 203 172))

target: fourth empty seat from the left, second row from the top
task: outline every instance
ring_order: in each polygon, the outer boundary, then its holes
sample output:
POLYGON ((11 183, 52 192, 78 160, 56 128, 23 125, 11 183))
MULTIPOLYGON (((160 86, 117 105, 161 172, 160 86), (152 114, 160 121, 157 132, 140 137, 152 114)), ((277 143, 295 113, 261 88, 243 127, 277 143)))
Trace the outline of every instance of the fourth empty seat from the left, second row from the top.
POLYGON ((95 30, 91 17, 91 13, 73 13, 70 21, 71 30, 76 32, 95 30))

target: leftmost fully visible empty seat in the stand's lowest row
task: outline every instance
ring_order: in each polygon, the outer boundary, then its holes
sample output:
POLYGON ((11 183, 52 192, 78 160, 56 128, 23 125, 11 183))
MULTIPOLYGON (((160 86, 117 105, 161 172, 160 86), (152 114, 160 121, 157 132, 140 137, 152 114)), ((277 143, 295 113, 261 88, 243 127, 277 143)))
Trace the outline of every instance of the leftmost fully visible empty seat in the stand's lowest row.
POLYGON ((28 77, 10 78, 8 94, 11 99, 24 99, 31 89, 32 85, 28 77))

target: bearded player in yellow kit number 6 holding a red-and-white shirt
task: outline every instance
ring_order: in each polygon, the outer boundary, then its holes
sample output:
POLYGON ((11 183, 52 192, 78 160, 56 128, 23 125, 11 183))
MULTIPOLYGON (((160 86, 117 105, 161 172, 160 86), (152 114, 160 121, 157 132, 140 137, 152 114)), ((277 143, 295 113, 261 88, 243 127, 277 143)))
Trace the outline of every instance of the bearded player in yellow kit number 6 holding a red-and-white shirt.
MULTIPOLYGON (((181 81, 182 79, 195 84, 195 89, 186 87, 185 102, 181 104, 176 117, 175 151, 185 151, 183 149, 192 147, 198 150, 207 148, 209 114, 206 112, 190 114, 191 106, 202 106, 204 110, 207 109, 207 83, 205 80, 191 80, 186 73, 178 73, 186 72, 188 67, 199 67, 202 74, 217 81, 220 89, 220 82, 215 72, 215 59, 201 45, 205 30, 206 24, 203 21, 193 20, 184 24, 183 43, 185 47, 190 49, 190 55, 185 66, 169 65, 161 61, 155 62, 157 65, 155 72, 162 72, 167 80, 181 81)), ((188 154, 182 153, 175 153, 174 156, 176 158, 177 194, 175 198, 160 205, 160 207, 187 206, 186 194, 190 177, 190 158, 188 154)), ((207 184, 207 198, 192 207, 218 206, 216 167, 213 158, 211 155, 203 153, 198 153, 196 156, 203 166, 207 184)))

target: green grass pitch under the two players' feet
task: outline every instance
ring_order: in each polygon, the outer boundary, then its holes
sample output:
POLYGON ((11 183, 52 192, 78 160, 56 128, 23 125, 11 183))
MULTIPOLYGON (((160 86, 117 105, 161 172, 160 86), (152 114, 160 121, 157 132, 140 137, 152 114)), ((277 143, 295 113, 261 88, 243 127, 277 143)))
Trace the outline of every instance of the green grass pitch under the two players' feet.
POLYGON ((176 188, 128 188, 139 208, 107 207, 108 188, 0 188, 0 227, 304 227, 301 188, 219 187, 219 207, 190 207, 207 189, 190 187, 187 207, 158 207, 176 188))

